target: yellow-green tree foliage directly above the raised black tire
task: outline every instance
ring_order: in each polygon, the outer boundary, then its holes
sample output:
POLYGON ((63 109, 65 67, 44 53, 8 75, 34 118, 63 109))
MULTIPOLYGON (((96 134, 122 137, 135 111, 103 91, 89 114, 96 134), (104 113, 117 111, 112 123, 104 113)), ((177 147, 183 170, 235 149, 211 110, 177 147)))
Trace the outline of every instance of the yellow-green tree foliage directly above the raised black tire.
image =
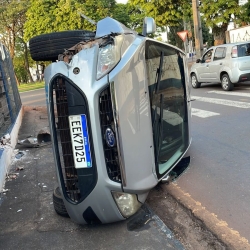
POLYGON ((30 38, 63 30, 95 30, 80 13, 94 21, 111 16, 115 0, 31 0, 27 21, 24 25, 24 38, 30 38))

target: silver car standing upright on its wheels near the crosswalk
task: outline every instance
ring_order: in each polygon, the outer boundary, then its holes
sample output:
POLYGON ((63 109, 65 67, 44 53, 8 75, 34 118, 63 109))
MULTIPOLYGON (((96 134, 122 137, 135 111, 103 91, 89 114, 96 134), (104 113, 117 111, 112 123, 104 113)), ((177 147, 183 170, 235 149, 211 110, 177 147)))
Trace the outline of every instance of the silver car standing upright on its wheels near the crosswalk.
POLYGON ((211 47, 197 59, 190 71, 193 88, 203 82, 221 82, 223 90, 234 84, 250 81, 250 41, 211 47))

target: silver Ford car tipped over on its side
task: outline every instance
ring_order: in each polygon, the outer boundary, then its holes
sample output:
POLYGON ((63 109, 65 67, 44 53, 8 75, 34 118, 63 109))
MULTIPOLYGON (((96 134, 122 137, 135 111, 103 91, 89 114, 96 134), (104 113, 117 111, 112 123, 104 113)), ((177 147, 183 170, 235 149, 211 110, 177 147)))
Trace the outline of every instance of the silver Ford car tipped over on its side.
POLYGON ((59 183, 54 208, 79 224, 130 217, 186 159, 191 107, 185 54, 145 36, 155 30, 153 19, 144 24, 139 35, 107 17, 96 32, 30 40, 33 59, 54 61, 45 70, 59 183))

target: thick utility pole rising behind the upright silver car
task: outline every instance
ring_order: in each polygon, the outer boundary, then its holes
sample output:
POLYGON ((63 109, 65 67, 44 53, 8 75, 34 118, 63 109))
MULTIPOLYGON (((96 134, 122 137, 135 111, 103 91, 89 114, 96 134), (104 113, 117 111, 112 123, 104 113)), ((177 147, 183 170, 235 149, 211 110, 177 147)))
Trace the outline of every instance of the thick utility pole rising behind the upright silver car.
POLYGON ((201 29, 201 18, 199 10, 199 0, 192 0, 193 18, 194 18, 194 38, 196 58, 200 58, 203 54, 203 37, 201 29))

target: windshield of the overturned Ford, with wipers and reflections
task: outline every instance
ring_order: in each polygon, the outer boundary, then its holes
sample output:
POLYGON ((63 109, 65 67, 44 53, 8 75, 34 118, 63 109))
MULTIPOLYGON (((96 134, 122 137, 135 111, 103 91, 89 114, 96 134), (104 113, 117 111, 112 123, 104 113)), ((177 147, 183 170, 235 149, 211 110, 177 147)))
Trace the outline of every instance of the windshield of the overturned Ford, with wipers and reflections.
POLYGON ((188 147, 188 116, 182 54, 153 41, 146 43, 155 163, 162 177, 188 147))

